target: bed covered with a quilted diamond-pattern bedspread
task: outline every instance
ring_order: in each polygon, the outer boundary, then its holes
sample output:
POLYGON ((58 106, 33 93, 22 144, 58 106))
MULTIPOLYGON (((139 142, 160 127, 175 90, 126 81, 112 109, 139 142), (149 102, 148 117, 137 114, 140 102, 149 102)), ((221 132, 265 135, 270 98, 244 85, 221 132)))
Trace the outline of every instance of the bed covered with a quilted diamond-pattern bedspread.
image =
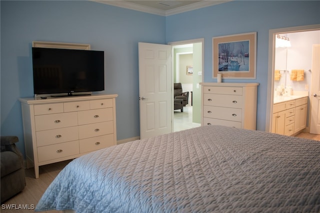
POLYGON ((319 212, 320 141, 212 125, 72 160, 36 211, 319 212))

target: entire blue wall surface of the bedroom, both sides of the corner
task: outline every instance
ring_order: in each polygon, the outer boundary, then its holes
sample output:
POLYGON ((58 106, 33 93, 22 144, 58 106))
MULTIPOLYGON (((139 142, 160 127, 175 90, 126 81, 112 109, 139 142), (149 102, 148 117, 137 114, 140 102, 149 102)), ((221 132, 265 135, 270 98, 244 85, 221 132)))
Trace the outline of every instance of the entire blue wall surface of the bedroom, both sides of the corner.
MULTIPOLYGON (((139 135, 139 41, 204 37, 204 81, 212 79, 212 36, 257 32, 257 129, 265 128, 268 30, 320 23, 320 1, 232 1, 167 17, 92 1, 0 1, 1 135, 24 151, 19 97, 33 95, 31 42, 91 44, 105 51, 105 93, 117 93, 117 139, 139 135)), ((230 81, 230 80, 228 80, 230 81)))

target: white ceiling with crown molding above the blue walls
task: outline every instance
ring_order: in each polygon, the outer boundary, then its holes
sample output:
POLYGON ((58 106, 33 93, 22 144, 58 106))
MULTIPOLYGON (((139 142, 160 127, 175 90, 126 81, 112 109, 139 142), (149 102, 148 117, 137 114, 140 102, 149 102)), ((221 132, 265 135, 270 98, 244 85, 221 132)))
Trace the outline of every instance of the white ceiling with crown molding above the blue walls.
POLYGON ((127 9, 134 9, 157 15, 172 15, 230 0, 93 0, 127 9))

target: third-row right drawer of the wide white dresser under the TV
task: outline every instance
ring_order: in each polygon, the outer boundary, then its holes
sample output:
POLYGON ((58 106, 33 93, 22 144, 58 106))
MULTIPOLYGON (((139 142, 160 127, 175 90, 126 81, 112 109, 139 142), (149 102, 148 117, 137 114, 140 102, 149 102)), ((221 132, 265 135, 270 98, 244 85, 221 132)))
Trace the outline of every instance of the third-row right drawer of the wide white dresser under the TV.
POLYGON ((79 139, 113 133, 113 121, 79 125, 79 139))

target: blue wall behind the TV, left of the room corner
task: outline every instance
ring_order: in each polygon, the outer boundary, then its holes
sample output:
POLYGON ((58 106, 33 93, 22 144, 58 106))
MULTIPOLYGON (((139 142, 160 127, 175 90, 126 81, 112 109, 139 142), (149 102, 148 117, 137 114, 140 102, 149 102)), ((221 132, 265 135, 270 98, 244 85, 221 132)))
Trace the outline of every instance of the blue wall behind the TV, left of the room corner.
POLYGON ((1 135, 24 152, 19 97, 33 96, 33 40, 104 50, 105 93, 116 93, 117 139, 139 135, 138 42, 165 43, 165 17, 92 1, 0 1, 1 135))

